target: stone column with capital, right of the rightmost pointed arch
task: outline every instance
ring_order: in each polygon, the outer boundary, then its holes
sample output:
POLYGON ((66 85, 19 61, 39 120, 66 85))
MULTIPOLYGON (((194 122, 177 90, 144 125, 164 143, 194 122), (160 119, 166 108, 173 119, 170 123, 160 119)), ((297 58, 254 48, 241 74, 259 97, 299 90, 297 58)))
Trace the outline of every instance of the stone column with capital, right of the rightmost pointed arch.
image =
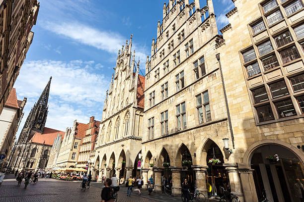
POLYGON ((226 170, 228 172, 232 195, 237 196, 240 202, 245 202, 237 164, 224 163, 223 166, 226 167, 226 170))

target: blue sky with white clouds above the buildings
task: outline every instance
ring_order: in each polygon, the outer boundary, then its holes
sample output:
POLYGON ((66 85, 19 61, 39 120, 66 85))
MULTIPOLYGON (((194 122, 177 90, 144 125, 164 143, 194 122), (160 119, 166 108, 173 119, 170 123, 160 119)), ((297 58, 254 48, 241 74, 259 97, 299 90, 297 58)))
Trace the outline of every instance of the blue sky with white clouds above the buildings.
MULTIPOLYGON (((168 1, 168 0, 166 0, 168 1)), ((191 1, 191 0, 190 0, 191 1)), ((33 43, 14 85, 26 97, 24 121, 53 76, 46 127, 65 131, 73 121, 101 119, 118 50, 133 34, 141 69, 151 54, 164 0, 40 0, 33 43)), ((213 0, 218 28, 228 24, 231 0, 213 0)), ((201 7, 206 0, 200 0, 201 7)))

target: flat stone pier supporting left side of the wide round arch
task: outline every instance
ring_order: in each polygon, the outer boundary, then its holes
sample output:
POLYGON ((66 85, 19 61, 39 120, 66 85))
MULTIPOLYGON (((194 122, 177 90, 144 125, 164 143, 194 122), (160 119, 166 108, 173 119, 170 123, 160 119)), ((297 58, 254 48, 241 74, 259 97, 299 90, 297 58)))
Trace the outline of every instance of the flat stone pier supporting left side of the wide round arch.
POLYGON ((238 163, 238 173, 240 175, 246 202, 257 202, 258 198, 253 179, 253 169, 251 169, 250 165, 238 163))

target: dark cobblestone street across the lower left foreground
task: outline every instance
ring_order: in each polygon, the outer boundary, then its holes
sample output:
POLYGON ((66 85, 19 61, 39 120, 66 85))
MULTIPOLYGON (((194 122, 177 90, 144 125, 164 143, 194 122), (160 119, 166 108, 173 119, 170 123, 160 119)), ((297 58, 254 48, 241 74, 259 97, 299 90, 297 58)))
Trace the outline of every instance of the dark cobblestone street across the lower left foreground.
MULTIPOLYGON (((66 182, 39 178, 37 184, 29 184, 24 190, 24 181, 20 187, 9 175, 0 186, 0 202, 100 202, 101 188, 91 186, 85 192, 80 190, 80 182, 66 182)), ((138 196, 127 197, 120 192, 118 202, 155 202, 138 196)), ((166 200, 167 201, 167 200, 166 200)), ((170 201, 170 200, 169 200, 170 201)))

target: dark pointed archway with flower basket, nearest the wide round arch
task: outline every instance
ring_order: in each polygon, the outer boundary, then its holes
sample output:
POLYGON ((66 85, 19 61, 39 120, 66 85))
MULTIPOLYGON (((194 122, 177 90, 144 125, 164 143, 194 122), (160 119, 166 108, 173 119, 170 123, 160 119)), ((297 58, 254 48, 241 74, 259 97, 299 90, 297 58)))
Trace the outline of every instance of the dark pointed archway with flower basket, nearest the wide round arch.
POLYGON ((211 186, 211 192, 208 192, 209 196, 222 196, 222 190, 220 187, 224 187, 225 190, 229 190, 229 178, 226 168, 223 166, 224 155, 219 146, 212 140, 208 140, 205 146, 209 146, 206 152, 207 168, 207 185, 211 186))

